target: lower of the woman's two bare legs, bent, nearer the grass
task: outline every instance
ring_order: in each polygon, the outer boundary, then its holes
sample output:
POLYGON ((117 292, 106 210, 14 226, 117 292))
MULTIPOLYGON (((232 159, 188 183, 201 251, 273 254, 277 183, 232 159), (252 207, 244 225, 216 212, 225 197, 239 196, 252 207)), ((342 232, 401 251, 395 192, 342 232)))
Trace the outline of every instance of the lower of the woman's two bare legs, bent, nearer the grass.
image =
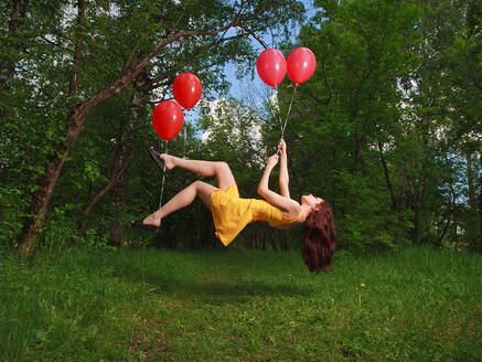
POLYGON ((217 189, 212 184, 202 181, 195 181, 179 192, 174 198, 169 200, 169 202, 165 203, 161 209, 147 216, 143 220, 143 224, 159 226, 161 224, 161 219, 168 216, 174 211, 188 206, 196 196, 200 198, 206 207, 211 210, 211 193, 215 190, 217 189))

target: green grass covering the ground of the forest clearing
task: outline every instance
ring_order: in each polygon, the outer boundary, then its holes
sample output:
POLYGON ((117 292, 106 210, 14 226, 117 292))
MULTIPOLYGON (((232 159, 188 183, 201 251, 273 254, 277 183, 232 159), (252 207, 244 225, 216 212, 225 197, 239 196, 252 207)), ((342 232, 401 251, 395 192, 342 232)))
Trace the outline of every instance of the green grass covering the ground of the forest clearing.
POLYGON ((294 252, 0 256, 1 361, 482 360, 482 255, 340 252, 318 276, 294 252))

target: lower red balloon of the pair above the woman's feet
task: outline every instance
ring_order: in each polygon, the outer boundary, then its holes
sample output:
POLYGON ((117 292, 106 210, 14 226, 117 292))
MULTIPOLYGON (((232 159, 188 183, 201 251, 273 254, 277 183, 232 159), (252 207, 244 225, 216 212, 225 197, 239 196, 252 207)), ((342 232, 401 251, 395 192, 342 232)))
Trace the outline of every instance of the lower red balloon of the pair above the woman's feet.
POLYGON ((184 125, 184 114, 175 102, 162 100, 152 113, 152 125, 159 137, 169 141, 178 136, 184 125))

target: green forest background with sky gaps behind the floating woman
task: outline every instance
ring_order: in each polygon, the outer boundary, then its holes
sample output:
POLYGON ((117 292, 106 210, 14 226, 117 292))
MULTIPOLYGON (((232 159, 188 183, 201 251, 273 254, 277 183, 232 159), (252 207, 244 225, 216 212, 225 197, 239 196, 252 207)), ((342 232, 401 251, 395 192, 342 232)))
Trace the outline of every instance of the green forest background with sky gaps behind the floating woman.
MULTIPOLYGON (((164 145, 151 113, 180 73, 196 74, 202 102, 169 152, 227 161, 242 196, 256 196, 293 86, 286 77, 276 94, 248 86, 253 97, 229 97, 224 70, 249 82, 259 45, 276 44, 317 57, 285 131, 290 190, 329 201, 340 248, 482 249, 481 3, 317 0, 310 17, 306 6, 2 2, 0 245, 221 247, 201 202, 159 235, 130 227, 160 200, 146 149, 164 145)), ((196 179, 168 172, 163 200, 196 179)), ((300 233, 251 224, 232 247, 299 248, 300 233)))

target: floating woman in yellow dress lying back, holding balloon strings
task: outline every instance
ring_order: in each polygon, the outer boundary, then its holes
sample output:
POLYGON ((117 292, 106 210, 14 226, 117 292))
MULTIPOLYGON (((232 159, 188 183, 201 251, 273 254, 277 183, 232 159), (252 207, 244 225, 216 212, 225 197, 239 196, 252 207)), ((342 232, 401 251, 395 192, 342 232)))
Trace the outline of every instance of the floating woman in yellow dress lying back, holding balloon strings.
POLYGON ((158 233, 162 219, 188 206, 197 196, 211 210, 216 228, 215 234, 225 246, 250 222, 267 222, 270 226, 281 230, 303 225, 303 260, 310 272, 326 272, 336 245, 332 211, 324 200, 311 194, 301 196, 301 204, 290 198, 287 151, 282 139, 278 143, 278 150, 281 194, 268 187, 269 175, 278 163, 278 156, 274 155, 266 162, 266 169, 258 187, 258 193, 266 200, 264 201, 239 198, 236 181, 226 162, 186 160, 165 153, 161 155, 150 148, 152 159, 162 171, 181 167, 203 177, 215 175, 217 188, 195 181, 144 220, 132 222, 132 226, 158 233))

